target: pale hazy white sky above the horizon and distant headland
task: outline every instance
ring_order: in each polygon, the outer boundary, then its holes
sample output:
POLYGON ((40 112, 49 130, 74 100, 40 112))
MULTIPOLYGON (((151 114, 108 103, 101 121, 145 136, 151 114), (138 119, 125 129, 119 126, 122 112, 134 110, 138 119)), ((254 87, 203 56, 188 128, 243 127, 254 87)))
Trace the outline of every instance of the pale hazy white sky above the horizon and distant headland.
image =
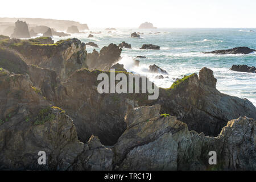
POLYGON ((0 17, 76 20, 89 27, 256 27, 255 0, 1 1, 0 17))

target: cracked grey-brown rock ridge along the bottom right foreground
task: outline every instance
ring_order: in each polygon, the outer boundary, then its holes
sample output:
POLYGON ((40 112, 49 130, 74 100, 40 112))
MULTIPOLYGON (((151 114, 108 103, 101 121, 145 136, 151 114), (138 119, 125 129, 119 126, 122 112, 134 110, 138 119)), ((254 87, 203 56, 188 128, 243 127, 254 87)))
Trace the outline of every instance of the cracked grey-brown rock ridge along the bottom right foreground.
POLYGON ((114 169, 255 169, 254 119, 229 121, 214 138, 189 131, 185 123, 159 111, 160 105, 154 105, 127 112, 127 129, 113 147, 114 169), (217 152, 217 165, 208 163, 210 151, 217 152))

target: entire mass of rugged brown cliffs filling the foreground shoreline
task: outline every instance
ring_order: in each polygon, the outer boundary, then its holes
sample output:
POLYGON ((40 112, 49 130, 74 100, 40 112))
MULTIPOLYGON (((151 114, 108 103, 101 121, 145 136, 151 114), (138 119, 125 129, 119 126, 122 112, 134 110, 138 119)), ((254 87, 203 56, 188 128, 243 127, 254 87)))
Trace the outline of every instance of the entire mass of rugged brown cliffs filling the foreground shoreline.
POLYGON ((109 44, 88 53, 78 39, 1 38, 0 169, 256 169, 249 100, 220 93, 208 68, 159 88, 157 100, 99 94, 97 76, 113 65, 132 74, 116 64, 121 52, 109 44), (46 166, 38 151, 46 151, 46 166), (220 152, 217 166, 209 151, 220 152))

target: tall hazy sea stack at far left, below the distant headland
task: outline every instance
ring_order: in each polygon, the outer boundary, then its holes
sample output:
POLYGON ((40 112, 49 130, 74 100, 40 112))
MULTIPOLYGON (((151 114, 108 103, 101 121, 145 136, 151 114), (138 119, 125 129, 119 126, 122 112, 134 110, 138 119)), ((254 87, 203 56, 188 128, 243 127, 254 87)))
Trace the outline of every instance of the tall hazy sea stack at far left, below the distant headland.
POLYGON ((20 20, 15 22, 15 28, 11 38, 30 38, 27 23, 20 20))

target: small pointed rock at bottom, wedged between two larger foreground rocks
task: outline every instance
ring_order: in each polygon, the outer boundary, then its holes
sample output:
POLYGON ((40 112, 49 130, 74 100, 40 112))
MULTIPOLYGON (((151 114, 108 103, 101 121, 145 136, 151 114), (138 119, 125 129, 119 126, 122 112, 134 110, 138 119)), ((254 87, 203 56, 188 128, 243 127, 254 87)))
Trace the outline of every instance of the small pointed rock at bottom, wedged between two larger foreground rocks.
POLYGON ((79 155, 73 170, 110 171, 113 169, 113 152, 101 144, 98 137, 90 137, 84 144, 84 152, 79 155))

